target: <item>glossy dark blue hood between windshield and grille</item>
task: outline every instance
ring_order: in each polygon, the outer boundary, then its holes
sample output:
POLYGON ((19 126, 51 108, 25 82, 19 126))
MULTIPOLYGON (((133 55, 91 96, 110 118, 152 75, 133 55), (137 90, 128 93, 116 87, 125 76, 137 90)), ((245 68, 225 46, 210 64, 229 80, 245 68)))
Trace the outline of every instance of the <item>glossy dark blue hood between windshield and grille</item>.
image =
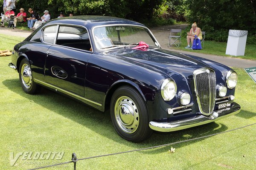
POLYGON ((183 74, 188 77, 193 72, 202 67, 209 67, 192 57, 178 52, 168 51, 161 48, 148 48, 145 51, 138 49, 124 49, 111 51, 108 54, 131 59, 138 64, 147 65, 171 76, 173 73, 183 74))

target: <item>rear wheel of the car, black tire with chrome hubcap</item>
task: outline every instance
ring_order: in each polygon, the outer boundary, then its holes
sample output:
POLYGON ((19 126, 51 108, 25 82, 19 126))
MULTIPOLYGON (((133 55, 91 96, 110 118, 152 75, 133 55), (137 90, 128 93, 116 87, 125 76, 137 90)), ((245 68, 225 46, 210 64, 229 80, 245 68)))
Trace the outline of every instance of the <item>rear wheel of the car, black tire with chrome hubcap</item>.
POLYGON ((41 86, 35 84, 29 61, 25 58, 20 62, 19 77, 21 87, 26 93, 36 94, 40 90, 41 86))

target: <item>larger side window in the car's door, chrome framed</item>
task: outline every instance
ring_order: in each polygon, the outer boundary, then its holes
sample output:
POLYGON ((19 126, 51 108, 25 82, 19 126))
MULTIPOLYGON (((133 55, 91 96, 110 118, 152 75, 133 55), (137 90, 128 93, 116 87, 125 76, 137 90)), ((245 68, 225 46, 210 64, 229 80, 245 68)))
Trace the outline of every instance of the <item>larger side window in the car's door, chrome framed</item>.
POLYGON ((91 51, 87 29, 78 26, 59 26, 56 44, 91 51))

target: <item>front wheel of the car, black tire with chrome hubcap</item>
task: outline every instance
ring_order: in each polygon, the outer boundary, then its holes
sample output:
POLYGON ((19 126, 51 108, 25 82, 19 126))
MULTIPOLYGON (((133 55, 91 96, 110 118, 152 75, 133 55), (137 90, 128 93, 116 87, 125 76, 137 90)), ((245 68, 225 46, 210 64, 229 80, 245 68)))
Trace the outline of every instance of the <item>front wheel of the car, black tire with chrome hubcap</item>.
POLYGON ((113 93, 110 114, 117 133, 128 141, 143 142, 153 132, 143 98, 129 86, 121 86, 113 93))

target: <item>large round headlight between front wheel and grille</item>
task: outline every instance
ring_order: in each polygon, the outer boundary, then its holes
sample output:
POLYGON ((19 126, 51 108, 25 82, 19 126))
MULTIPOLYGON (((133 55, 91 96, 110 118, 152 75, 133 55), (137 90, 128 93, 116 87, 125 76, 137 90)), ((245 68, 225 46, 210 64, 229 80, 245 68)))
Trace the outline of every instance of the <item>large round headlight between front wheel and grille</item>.
POLYGON ((161 95, 165 101, 170 101, 174 98, 177 92, 177 85, 172 79, 165 79, 161 86, 161 95))

